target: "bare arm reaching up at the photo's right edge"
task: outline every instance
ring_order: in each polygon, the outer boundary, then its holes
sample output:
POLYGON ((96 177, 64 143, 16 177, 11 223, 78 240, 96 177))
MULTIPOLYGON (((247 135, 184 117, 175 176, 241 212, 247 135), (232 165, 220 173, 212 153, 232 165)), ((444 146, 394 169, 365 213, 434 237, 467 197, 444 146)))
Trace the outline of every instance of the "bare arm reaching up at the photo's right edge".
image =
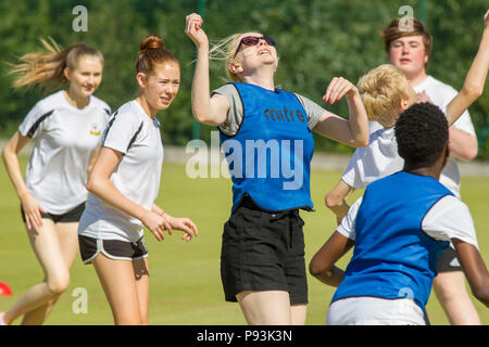
POLYGON ((489 68, 489 10, 484 16, 484 31, 477 51, 462 90, 447 106, 447 120, 451 126, 484 92, 484 85, 489 68))

